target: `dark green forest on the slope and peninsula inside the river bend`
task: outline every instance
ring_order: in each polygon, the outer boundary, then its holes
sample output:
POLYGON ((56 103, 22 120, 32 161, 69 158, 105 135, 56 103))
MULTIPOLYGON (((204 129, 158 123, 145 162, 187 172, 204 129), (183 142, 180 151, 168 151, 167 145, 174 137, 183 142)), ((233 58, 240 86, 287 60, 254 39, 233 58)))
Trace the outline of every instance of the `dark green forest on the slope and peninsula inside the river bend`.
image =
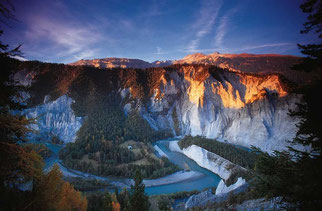
POLYGON ((148 165, 130 164, 142 159, 144 153, 135 155, 120 147, 122 143, 133 140, 148 144, 171 134, 155 131, 136 111, 125 115, 119 107, 122 99, 113 91, 111 74, 106 72, 110 71, 84 71, 80 74, 85 75, 79 75, 70 85, 69 95, 75 100, 72 108, 76 115, 86 118, 75 143, 67 144, 60 152, 63 164, 102 176, 132 177, 135 170, 140 169, 144 178, 154 178, 178 170, 167 160, 150 159, 148 165), (94 162, 83 161, 86 155, 94 162), (129 165, 115 168, 121 164, 129 165))

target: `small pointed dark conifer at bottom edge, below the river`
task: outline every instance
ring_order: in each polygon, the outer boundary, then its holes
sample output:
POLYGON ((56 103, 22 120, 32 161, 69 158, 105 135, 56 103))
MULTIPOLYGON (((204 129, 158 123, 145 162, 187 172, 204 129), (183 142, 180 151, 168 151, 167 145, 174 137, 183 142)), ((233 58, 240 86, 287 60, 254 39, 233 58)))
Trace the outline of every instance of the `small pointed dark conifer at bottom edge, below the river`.
POLYGON ((149 209, 148 196, 144 192, 145 185, 142 182, 140 171, 135 172, 134 186, 130 190, 130 210, 145 211, 149 209))

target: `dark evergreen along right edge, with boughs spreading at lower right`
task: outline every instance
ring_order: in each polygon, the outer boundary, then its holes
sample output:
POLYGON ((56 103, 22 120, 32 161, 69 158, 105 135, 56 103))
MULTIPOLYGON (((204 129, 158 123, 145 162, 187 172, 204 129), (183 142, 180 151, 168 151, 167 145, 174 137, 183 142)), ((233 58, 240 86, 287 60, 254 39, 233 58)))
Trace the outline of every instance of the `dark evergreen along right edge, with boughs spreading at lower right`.
MULTIPOLYGON (((313 31, 322 38, 322 1, 307 0, 301 9, 309 14, 301 33, 313 31)), ((299 47, 308 57, 295 69, 318 73, 318 80, 297 90, 302 95, 302 102, 290 114, 300 122, 296 138, 290 142, 290 152, 274 152, 273 156, 260 152, 255 168, 255 187, 262 195, 282 196, 284 201, 301 210, 322 210, 322 110, 319 98, 322 92, 322 45, 299 47), (293 145, 306 149, 299 150, 293 145)))

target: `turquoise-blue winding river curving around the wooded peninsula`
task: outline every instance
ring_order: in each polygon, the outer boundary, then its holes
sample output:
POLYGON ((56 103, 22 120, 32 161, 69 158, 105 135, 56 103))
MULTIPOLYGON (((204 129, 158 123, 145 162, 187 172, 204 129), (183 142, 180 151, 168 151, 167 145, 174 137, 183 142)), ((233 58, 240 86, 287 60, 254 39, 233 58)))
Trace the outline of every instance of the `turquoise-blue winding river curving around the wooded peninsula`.
MULTIPOLYGON (((178 165, 184 171, 177 172, 173 175, 158 178, 155 180, 144 181, 146 183, 146 193, 148 195, 157 194, 169 194, 180 191, 192 191, 192 190, 203 190, 205 188, 216 187, 221 178, 213 172, 200 167, 195 161, 191 160, 184 154, 173 152, 169 149, 169 143, 171 141, 178 141, 179 138, 170 138, 166 140, 156 141, 154 145, 159 147, 162 152, 168 157, 170 162, 178 165), (164 181, 168 182, 164 182, 164 181), (170 181, 170 182, 169 182, 170 181)), ((58 163, 61 171, 65 176, 78 176, 84 178, 95 178, 98 180, 104 180, 110 182, 119 188, 128 187, 131 180, 115 177, 100 177, 92 174, 71 170, 60 164, 58 158, 58 152, 62 146, 45 144, 50 150, 53 151, 53 155, 46 159, 45 170, 48 170, 54 163, 58 163)), ((157 156, 160 156, 156 152, 157 156)))

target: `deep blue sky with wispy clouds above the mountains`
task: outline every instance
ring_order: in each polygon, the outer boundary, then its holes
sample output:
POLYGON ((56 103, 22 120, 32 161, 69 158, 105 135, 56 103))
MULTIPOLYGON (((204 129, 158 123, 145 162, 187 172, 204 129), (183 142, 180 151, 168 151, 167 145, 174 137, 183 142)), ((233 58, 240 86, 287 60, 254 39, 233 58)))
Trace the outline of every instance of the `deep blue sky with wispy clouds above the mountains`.
POLYGON ((12 0, 0 39, 28 60, 175 60, 192 53, 301 56, 302 0, 12 0))

